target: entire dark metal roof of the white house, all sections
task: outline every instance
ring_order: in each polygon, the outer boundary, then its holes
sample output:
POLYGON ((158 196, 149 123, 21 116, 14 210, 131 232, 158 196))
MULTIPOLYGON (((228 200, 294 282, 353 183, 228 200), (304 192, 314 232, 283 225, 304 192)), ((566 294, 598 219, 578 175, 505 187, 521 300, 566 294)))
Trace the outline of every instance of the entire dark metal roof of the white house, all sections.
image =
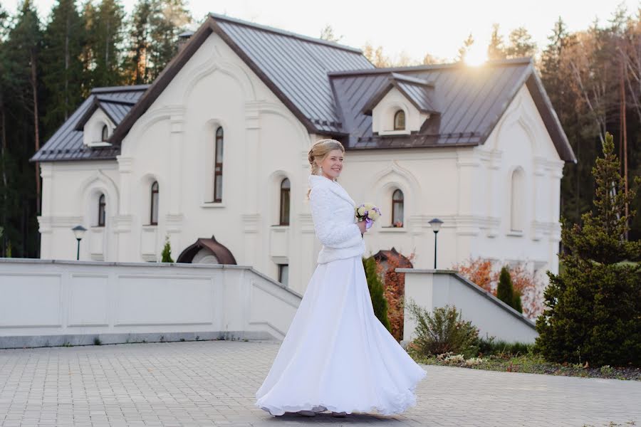
POLYGON ((462 64, 374 68, 358 49, 217 14, 209 15, 148 89, 93 90, 31 160, 115 158, 136 120, 212 32, 244 60, 308 132, 341 139, 346 149, 483 144, 525 84, 559 155, 576 162, 529 58, 492 61, 478 68, 462 64), (393 86, 431 115, 411 135, 372 135, 368 114, 393 86), (83 147, 82 133, 73 129, 95 108, 115 122, 115 132, 108 140, 112 147, 83 147))

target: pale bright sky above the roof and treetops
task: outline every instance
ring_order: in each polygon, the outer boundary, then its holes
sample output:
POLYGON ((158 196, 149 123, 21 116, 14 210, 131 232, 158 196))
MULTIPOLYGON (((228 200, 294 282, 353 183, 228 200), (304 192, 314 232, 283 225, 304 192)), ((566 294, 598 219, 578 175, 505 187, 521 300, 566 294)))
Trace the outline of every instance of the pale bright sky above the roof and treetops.
MULTIPOLYGON (((18 0, 0 0, 5 9, 16 10, 18 0)), ((41 19, 46 19, 55 0, 34 0, 41 19)), ((135 0, 123 0, 125 11, 135 0)), ((208 12, 318 37, 332 26, 340 43, 363 48, 382 46, 392 58, 401 55, 421 60, 426 53, 454 60, 471 33, 476 55, 484 53, 492 24, 507 41, 509 31, 527 28, 539 48, 548 43, 554 23, 561 16, 568 31, 588 28, 598 19, 608 23, 618 5, 635 15, 641 0, 187 0, 197 21, 208 12)), ((474 47, 473 47, 474 49, 474 47)))

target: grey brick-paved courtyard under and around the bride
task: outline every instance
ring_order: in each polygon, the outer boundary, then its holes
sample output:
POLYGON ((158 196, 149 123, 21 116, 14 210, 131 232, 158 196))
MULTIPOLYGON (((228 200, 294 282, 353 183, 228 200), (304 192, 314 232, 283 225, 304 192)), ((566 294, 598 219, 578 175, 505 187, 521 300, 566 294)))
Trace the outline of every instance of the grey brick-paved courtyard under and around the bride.
POLYGON ((1 426, 634 426, 641 382, 427 366, 395 416, 274 417, 254 393, 277 342, 0 349, 1 426), (612 423, 612 424, 610 424, 612 423))

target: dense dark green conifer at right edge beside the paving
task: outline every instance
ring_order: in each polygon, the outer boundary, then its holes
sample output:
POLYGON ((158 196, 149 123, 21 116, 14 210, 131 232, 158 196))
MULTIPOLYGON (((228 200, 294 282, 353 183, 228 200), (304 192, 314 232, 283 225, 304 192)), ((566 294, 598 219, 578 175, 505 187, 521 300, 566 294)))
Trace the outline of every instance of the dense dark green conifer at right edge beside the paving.
POLYGON ((641 366, 641 241, 625 240, 625 202, 635 197, 641 177, 626 195, 619 168, 606 132, 603 157, 592 169, 594 212, 583 214, 581 225, 563 218, 569 252, 559 254, 561 273, 547 272, 548 309, 536 320, 535 348, 548 360, 641 366))

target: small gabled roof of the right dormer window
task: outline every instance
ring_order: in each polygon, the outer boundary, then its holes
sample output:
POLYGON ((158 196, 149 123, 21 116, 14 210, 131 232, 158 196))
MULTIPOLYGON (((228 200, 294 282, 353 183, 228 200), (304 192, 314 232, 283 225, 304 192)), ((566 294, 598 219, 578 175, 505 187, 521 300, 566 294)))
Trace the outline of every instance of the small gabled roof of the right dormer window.
POLYGON ((436 107, 436 94, 434 93, 434 85, 432 83, 420 78, 412 78, 400 73, 390 72, 387 85, 383 85, 368 102, 365 102, 365 106, 361 109, 363 114, 371 115, 374 107, 378 105, 380 100, 382 100, 392 88, 397 88, 420 112, 438 112, 436 107))

